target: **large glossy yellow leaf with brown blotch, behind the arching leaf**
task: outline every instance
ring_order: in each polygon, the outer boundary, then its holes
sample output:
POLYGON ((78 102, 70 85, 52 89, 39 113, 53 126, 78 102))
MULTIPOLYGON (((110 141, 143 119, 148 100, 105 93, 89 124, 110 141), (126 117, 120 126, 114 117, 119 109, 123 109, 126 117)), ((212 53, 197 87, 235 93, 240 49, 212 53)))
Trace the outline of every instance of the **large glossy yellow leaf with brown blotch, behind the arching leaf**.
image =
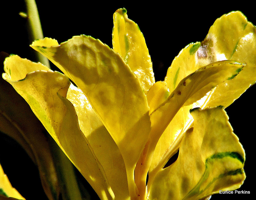
MULTIPOLYGON (((207 93, 202 100, 197 101, 195 103, 197 105, 193 106, 205 108, 223 105, 228 107, 256 81, 255 32, 255 26, 248 22, 241 12, 231 12, 217 19, 202 43, 189 44, 173 60, 165 77, 170 92, 174 90, 183 77, 188 76, 202 66, 220 60, 236 60, 246 64, 236 78, 219 84, 218 87, 207 93)), ((184 124, 191 124, 193 121, 189 117, 188 109, 180 117, 186 119, 183 122, 184 124)), ((177 127, 175 130, 174 127, 175 125, 172 125, 172 131, 174 132, 180 132, 182 128, 177 127)), ((180 133, 182 134, 184 131, 186 129, 183 129, 180 133)), ((170 157, 174 153, 172 149, 169 149, 169 153, 166 152, 166 148, 169 148, 169 144, 172 144, 171 142, 166 143, 166 141, 173 133, 167 130, 165 132, 157 144, 158 147, 154 156, 156 162, 157 157, 162 159, 165 156, 170 157)), ((178 143, 178 141, 175 141, 175 143, 178 143)))

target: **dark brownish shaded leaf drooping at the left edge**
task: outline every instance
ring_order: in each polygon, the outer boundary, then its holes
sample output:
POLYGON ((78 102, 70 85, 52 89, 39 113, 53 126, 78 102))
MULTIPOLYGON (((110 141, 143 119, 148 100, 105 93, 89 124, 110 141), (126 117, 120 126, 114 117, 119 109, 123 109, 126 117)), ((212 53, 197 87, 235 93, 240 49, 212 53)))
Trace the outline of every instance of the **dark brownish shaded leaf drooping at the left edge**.
MULTIPOLYGON (((18 62, 22 60, 18 56, 12 57, 18 62)), ((22 64, 24 63, 21 62, 20 67, 22 64)), ((48 133, 28 103, 2 78, 0 91, 0 131, 16 140, 37 165, 44 192, 52 200, 59 196, 61 183, 58 182, 60 179, 49 145, 51 142, 46 136, 48 133)))

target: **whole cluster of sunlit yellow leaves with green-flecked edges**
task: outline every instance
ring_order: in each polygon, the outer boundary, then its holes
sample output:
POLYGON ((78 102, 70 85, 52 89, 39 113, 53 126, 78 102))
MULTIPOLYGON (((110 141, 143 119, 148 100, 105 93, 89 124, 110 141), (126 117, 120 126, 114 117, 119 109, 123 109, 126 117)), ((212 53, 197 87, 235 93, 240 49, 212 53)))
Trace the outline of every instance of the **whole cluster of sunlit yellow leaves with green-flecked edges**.
POLYGON ((202 199, 245 179, 244 149, 224 108, 256 81, 255 33, 241 12, 223 15, 155 82, 145 39, 119 9, 113 49, 85 35, 44 38, 31 47, 64 74, 11 55, 3 78, 100 199, 202 199))

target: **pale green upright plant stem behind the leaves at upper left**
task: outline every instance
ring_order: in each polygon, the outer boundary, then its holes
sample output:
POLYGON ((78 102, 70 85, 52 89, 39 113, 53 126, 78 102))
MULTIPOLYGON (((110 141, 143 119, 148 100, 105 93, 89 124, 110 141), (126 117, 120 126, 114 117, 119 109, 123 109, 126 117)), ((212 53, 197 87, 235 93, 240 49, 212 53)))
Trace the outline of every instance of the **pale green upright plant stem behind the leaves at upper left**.
MULTIPOLYGON (((36 6, 35 0, 25 0, 26 7, 27 7, 27 15, 28 15, 28 24, 29 24, 29 29, 28 34, 30 36, 30 39, 32 40, 31 43, 35 40, 38 39, 43 39, 43 30, 36 6)), ((45 58, 42 54, 39 52, 36 53, 36 58, 37 61, 41 62, 43 65, 47 66, 50 68, 50 63, 47 58, 45 58)))

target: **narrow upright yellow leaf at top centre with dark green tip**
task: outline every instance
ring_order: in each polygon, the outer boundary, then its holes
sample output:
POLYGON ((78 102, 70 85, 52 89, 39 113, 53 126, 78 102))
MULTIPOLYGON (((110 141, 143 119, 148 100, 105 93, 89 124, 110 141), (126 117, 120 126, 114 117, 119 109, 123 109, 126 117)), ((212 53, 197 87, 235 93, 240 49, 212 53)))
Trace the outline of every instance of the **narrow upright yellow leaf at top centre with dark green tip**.
POLYGON ((118 9, 113 16, 113 50, 129 65, 146 93, 155 83, 151 58, 139 26, 128 19, 125 9, 118 9))

